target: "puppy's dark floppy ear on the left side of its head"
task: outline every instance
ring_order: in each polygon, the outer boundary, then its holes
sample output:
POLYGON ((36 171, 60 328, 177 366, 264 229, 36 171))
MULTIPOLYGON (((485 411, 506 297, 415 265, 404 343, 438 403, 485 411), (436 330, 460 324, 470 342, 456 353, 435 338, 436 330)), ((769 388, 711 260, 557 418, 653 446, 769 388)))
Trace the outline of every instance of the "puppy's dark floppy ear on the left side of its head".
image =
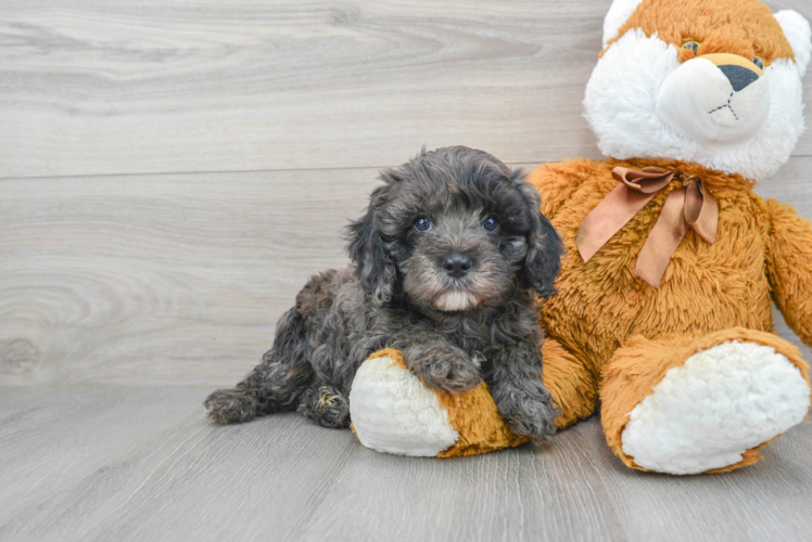
POLYGON ((388 185, 375 189, 366 214, 346 227, 350 241, 347 253, 357 266, 358 281, 364 292, 372 296, 379 305, 392 299, 397 279, 395 263, 386 254, 376 220, 376 211, 388 189, 388 185))

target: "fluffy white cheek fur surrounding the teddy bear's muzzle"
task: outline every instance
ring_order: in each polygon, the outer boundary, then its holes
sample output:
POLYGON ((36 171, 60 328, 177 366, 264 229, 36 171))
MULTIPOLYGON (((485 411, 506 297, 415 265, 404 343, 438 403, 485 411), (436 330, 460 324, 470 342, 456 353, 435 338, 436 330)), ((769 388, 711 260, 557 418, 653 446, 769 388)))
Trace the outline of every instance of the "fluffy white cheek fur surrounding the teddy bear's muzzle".
MULTIPOLYGON (((595 67, 584 99, 585 116, 598 137, 600 151, 619 159, 695 162, 754 180, 777 171, 803 131, 798 66, 790 60, 767 66, 763 75, 769 94, 766 118, 760 125, 756 122, 759 128, 754 133, 719 142, 695 139, 682 131, 684 126, 677 129, 658 113, 660 90, 680 67, 676 48, 657 35, 647 37, 632 29, 612 43, 595 67)), ((751 129, 752 124, 743 124, 743 129, 748 127, 751 129)))

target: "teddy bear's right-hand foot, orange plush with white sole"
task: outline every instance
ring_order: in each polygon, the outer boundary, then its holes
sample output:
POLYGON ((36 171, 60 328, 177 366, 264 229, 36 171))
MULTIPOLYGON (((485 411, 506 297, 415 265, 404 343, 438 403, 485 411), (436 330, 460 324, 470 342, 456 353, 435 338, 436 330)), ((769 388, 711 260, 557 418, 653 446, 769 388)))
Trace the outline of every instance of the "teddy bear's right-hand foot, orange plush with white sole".
POLYGON ((732 470, 801 422, 810 406, 798 349, 740 327, 702 337, 633 337, 604 372, 601 423, 633 468, 732 470))

